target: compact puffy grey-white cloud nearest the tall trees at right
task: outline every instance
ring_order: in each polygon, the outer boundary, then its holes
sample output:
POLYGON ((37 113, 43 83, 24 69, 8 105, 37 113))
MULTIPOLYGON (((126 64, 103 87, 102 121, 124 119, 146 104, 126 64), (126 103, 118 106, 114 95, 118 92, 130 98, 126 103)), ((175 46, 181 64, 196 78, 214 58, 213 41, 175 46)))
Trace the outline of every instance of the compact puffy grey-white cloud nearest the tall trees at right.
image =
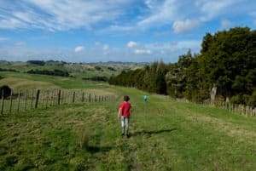
POLYGON ((177 20, 173 23, 172 28, 175 33, 190 31, 200 26, 199 20, 177 20))

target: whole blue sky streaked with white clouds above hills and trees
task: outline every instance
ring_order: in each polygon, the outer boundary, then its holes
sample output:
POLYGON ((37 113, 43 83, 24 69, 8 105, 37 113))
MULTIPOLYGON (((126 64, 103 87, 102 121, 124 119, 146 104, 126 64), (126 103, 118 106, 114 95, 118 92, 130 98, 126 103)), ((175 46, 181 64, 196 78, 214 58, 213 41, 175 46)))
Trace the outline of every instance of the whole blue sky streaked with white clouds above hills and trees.
POLYGON ((174 63, 236 26, 254 0, 0 0, 0 60, 174 63))

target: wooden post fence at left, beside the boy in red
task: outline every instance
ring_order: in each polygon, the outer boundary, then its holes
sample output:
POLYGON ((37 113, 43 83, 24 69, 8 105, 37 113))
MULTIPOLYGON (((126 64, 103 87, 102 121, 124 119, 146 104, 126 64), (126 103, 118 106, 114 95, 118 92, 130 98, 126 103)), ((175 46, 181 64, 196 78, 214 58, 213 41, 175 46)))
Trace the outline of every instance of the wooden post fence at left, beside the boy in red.
POLYGON ((61 104, 113 100, 115 100, 113 96, 96 95, 83 91, 60 89, 12 90, 8 96, 4 95, 2 92, 0 115, 18 113, 20 111, 28 111, 37 108, 47 108, 61 104))

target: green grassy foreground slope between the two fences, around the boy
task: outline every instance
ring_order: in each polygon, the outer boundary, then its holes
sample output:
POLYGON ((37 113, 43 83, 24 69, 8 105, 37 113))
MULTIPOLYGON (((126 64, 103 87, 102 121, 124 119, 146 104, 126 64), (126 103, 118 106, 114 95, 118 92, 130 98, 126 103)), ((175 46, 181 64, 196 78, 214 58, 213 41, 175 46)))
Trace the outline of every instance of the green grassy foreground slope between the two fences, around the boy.
POLYGON ((255 117, 154 94, 146 104, 137 89, 108 88, 131 97, 129 139, 117 119, 121 98, 3 116, 0 170, 256 169, 255 117))

